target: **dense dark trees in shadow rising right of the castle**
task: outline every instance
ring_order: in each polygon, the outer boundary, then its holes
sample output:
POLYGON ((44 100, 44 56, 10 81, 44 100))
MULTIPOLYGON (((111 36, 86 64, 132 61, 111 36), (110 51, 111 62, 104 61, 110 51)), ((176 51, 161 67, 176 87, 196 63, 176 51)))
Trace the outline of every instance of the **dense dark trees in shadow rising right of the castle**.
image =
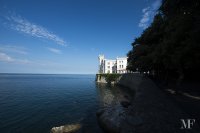
POLYGON ((163 80, 198 79, 199 9, 199 0, 163 0, 151 25, 132 43, 127 68, 163 80))

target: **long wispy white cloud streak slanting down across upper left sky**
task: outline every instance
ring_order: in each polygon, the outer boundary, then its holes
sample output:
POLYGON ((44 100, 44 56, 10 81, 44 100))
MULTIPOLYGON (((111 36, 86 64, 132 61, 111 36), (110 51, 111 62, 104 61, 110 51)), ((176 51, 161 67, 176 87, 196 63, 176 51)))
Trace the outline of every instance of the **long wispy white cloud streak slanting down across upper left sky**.
POLYGON ((8 21, 9 27, 13 30, 22 32, 24 34, 27 34, 33 37, 51 40, 59 45, 66 46, 66 42, 62 38, 57 36, 56 34, 48 31, 46 28, 40 25, 31 23, 30 21, 22 18, 19 15, 6 16, 5 18, 8 21))

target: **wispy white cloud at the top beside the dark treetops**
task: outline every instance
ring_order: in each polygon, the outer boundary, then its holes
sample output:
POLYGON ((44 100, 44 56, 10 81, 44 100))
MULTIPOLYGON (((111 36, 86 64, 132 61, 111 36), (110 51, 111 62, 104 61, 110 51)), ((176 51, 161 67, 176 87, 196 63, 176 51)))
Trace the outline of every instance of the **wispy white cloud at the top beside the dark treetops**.
POLYGON ((138 24, 139 27, 145 29, 149 26, 160 4, 161 0, 156 0, 155 2, 152 3, 151 6, 142 9, 143 16, 138 24))

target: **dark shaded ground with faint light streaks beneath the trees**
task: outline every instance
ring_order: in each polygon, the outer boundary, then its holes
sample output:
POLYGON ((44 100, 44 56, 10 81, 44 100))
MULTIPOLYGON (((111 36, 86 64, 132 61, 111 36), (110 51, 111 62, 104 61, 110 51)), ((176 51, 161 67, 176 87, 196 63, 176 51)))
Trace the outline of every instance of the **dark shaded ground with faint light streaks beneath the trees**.
POLYGON ((158 80, 153 80, 154 83, 163 91, 172 101, 186 112, 191 118, 196 119, 200 125, 200 83, 187 82, 182 83, 177 92, 174 84, 164 85, 158 80))

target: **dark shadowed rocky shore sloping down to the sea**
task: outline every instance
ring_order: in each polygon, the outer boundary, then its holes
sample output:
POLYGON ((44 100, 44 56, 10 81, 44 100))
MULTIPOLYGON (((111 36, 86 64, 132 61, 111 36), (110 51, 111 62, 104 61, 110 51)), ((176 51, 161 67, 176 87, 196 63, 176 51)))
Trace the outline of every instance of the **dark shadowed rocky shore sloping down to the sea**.
POLYGON ((148 78, 139 74, 125 74, 119 85, 135 91, 134 98, 124 98, 117 104, 97 111, 100 126, 109 133, 199 133, 181 129, 181 119, 191 118, 183 112, 148 78))

